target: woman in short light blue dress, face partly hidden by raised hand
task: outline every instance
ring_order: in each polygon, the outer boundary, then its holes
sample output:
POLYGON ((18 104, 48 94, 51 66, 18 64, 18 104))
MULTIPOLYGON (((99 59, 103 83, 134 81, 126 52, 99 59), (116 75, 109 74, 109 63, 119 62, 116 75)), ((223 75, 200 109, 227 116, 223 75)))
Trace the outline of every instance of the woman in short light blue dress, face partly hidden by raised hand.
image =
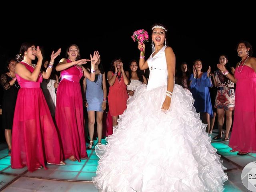
POLYGON ((88 113, 88 128, 90 135, 90 144, 87 149, 92 149, 93 136, 94 136, 94 124, 95 124, 95 111, 97 121, 97 133, 98 133, 98 144, 101 144, 102 139, 102 118, 103 112, 106 109, 106 98, 107 98, 107 87, 106 78, 100 58, 95 64, 95 80, 90 81, 85 78, 84 90, 86 90, 86 107, 88 113))

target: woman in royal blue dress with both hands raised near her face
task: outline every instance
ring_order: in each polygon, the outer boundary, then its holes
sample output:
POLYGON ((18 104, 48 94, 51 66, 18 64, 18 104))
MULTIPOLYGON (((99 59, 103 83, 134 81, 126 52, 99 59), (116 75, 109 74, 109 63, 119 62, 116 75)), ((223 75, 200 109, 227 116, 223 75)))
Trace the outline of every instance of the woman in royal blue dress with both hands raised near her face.
POLYGON ((190 91, 195 100, 194 107, 196 112, 202 114, 202 121, 207 125, 206 132, 210 132, 210 116, 213 117, 211 97, 209 87, 212 87, 210 76, 211 67, 206 73, 202 72, 202 61, 194 61, 193 73, 190 76, 190 91))

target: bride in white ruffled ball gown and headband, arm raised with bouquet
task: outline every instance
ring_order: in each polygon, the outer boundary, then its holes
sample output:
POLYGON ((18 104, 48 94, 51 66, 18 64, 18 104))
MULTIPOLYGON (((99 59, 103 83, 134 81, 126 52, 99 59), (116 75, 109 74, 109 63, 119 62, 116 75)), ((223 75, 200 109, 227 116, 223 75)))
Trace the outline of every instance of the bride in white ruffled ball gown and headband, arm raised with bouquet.
MULTIPOLYGON (((94 185, 102 192, 223 191, 228 177, 193 106, 192 94, 174 84, 175 55, 165 46, 166 27, 152 26, 153 52, 140 69, 150 69, 127 101, 100 157, 94 185)), ((138 45, 143 48, 145 44, 138 45)))

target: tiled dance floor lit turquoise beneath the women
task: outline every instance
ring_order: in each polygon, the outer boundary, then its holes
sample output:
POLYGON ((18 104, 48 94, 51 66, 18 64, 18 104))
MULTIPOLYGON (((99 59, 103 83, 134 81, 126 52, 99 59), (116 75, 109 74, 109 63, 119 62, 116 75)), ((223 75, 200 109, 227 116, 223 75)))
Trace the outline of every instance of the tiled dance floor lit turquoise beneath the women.
MULTIPOLYGON (((217 130, 211 137, 217 135, 217 130)), ((102 140, 104 143, 105 140, 102 140)), ((96 143, 96 142, 94 142, 96 143)), ((225 192, 250 192, 241 181, 241 172, 246 164, 256 161, 256 154, 239 156, 230 153, 228 142, 212 140, 221 155, 228 181, 224 184, 225 192)), ((25 168, 12 169, 6 144, 0 144, 0 191, 3 192, 97 192, 92 177, 98 165, 98 156, 94 150, 87 150, 88 159, 81 162, 66 160, 66 166, 47 165, 48 170, 40 169, 31 173, 25 168)))

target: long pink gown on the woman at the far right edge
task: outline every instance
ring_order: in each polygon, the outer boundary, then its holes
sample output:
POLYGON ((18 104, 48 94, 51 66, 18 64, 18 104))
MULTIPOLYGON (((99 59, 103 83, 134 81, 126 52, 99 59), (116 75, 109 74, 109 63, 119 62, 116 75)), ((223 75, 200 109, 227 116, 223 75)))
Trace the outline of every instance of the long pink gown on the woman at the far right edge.
POLYGON ((256 152, 256 73, 246 65, 235 70, 236 99, 229 146, 241 152, 256 152), (243 68, 242 68, 243 67, 243 68), (241 71, 242 70, 242 71, 241 71), (241 71, 238 73, 238 71, 241 71))

